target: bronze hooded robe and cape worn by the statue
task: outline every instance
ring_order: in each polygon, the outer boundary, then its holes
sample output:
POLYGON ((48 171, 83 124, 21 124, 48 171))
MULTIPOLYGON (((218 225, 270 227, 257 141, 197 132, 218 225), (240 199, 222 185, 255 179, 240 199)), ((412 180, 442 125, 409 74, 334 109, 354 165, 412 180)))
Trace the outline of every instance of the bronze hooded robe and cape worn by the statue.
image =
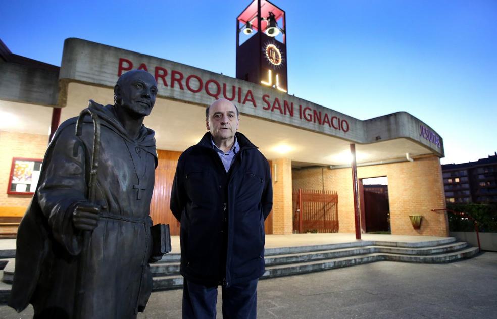
MULTIPOLYGON (((90 101, 90 108, 101 122, 94 203, 102 215, 87 249, 80 317, 133 318, 152 291, 148 214, 157 166, 154 131, 142 126, 134 139, 117 119, 114 105, 90 101)), ((72 317, 83 236, 71 215, 86 201, 94 134, 86 116, 83 134, 76 137, 76 120, 62 123, 49 144, 19 226, 9 305, 22 311, 31 303, 35 317, 72 317)))

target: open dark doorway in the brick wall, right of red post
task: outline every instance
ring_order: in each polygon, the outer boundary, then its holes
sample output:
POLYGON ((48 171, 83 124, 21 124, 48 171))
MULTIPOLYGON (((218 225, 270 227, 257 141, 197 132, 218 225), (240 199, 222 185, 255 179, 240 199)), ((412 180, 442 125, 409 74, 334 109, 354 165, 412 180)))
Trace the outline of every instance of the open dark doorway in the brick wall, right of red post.
POLYGON ((366 233, 390 233, 387 177, 363 178, 360 184, 363 230, 366 233))

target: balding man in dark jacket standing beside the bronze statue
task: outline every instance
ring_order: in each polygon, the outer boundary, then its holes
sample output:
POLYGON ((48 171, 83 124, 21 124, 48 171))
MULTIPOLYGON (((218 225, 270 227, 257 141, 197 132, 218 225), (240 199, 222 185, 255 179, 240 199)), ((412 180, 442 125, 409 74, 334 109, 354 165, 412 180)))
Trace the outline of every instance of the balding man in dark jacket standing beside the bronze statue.
POLYGON ((267 159, 243 134, 226 99, 206 109, 207 132, 178 160, 171 211, 181 222, 183 318, 255 318, 264 274, 264 221, 273 205, 267 159))

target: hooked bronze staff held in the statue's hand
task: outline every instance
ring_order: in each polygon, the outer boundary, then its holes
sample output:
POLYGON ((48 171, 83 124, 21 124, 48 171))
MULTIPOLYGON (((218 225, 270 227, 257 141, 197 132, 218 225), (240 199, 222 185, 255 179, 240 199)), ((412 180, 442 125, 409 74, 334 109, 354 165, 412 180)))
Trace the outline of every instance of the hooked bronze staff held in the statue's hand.
MULTIPOLYGON (((96 183, 96 172, 98 169, 98 156, 100 154, 100 119, 98 119, 98 115, 92 112, 90 108, 84 109, 81 111, 78 117, 78 121, 76 122, 76 136, 81 136, 83 132, 83 119, 86 115, 90 115, 93 120, 93 150, 91 154, 91 167, 90 167, 90 178, 88 181, 86 198, 88 202, 92 203, 94 198, 94 186, 96 183)), ((83 246, 81 247, 81 253, 79 255, 78 262, 78 272, 76 275, 76 289, 74 294, 74 311, 73 317, 79 318, 81 317, 81 302, 84 296, 84 273, 85 273, 85 265, 87 259, 87 249, 90 242, 91 231, 83 231, 83 246)))

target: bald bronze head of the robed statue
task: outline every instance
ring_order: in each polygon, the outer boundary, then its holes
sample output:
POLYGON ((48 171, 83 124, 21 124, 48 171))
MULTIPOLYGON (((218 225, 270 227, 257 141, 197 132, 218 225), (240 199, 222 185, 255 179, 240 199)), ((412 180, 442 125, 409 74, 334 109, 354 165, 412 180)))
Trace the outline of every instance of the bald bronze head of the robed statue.
POLYGON ((114 103, 133 117, 149 115, 154 108, 157 82, 144 70, 131 70, 119 77, 114 86, 114 103))

